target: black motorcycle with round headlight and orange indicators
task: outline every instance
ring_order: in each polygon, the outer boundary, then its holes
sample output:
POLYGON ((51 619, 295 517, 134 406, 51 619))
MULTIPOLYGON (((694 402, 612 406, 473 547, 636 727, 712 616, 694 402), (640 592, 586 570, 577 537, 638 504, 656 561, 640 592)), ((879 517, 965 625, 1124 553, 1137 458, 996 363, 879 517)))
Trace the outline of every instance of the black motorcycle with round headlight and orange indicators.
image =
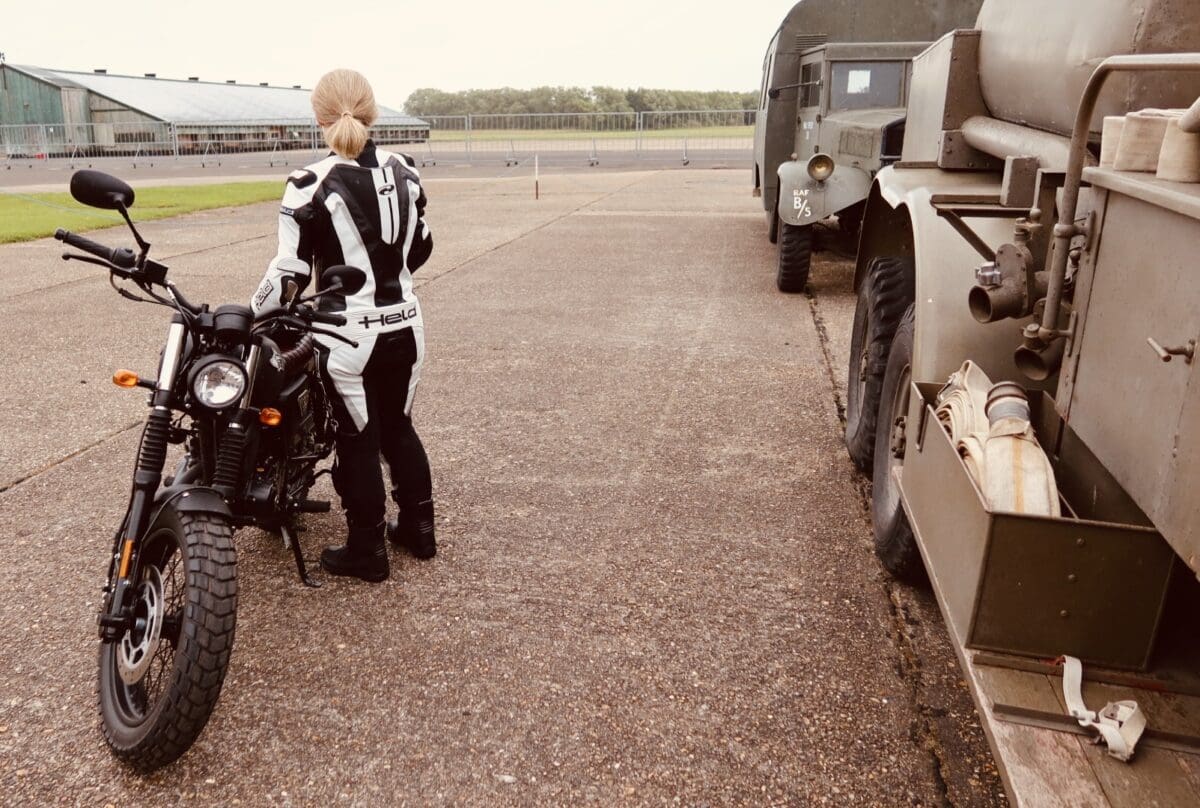
POLYGON ((314 323, 344 318, 311 305, 336 295, 352 268, 324 273, 325 289, 260 312, 226 304, 193 305, 146 256, 127 209, 133 190, 101 172, 71 178, 79 202, 116 210, 138 252, 58 231, 103 267, 119 294, 174 311, 158 373, 113 381, 150 390, 132 493, 116 534, 100 612, 100 712, 113 753, 151 771, 179 758, 209 720, 233 648, 238 571, 233 532, 256 525, 282 535, 300 579, 308 577, 296 539, 302 513, 329 510, 308 499, 317 465, 334 445, 329 401, 313 334, 344 340, 314 323), (182 444, 163 479, 168 445, 182 444))

